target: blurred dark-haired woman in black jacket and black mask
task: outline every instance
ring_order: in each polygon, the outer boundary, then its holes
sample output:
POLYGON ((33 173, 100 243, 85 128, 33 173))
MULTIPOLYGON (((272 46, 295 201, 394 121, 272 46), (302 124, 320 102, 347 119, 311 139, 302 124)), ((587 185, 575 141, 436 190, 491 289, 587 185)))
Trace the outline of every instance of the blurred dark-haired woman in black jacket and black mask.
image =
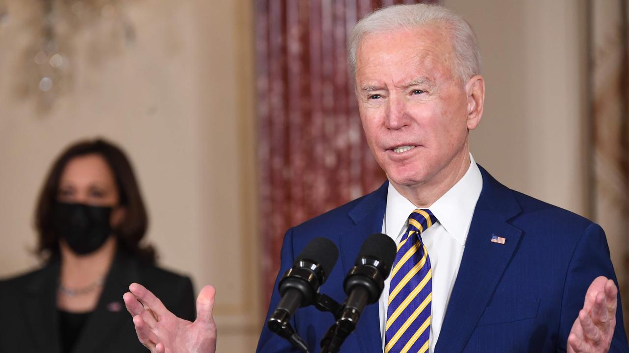
POLYGON ((107 141, 82 141, 53 163, 35 214, 43 268, 0 281, 0 352, 146 352, 123 293, 143 283, 194 320, 189 278, 155 266, 131 164, 107 141))

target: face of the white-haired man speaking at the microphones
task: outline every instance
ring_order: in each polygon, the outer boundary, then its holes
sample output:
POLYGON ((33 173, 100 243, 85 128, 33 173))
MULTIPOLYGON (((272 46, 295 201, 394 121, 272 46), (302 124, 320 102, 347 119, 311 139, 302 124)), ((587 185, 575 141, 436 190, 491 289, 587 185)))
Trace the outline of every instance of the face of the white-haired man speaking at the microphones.
MULTIPOLYGON (((356 87, 369 148, 392 183, 412 187, 457 173, 467 153, 469 97, 452 72, 441 26, 369 33, 356 87)), ((477 122, 477 121, 476 121, 477 122)))

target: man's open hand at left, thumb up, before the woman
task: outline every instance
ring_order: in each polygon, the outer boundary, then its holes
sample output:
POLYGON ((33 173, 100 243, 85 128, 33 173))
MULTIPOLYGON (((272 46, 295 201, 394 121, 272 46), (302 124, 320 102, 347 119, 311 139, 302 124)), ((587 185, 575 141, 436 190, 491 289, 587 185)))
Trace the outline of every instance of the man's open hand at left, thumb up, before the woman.
POLYGON ((213 286, 204 286, 196 301, 197 318, 183 320, 169 312, 153 293, 137 283, 125 293, 126 310, 133 316, 138 340, 151 353, 214 353, 216 325, 212 318, 213 286))

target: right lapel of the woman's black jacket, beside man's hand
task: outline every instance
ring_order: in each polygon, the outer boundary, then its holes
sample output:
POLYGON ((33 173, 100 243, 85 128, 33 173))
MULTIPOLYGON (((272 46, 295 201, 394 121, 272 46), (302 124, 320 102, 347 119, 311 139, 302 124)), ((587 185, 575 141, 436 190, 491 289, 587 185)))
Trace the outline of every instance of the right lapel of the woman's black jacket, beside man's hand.
POLYGON ((72 352, 101 351, 99 347, 115 337, 121 327, 125 327, 131 317, 125 309, 122 295, 128 291, 131 283, 137 281, 136 264, 119 251, 111 264, 96 309, 89 315, 72 352))

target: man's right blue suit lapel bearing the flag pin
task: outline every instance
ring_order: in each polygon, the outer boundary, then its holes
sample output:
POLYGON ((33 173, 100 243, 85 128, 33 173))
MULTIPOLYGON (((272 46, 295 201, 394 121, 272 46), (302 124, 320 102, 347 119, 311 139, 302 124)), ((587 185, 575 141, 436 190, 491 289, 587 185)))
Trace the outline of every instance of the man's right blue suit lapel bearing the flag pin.
POLYGON ((435 347, 461 352, 518 245, 521 230, 507 222, 520 212, 513 192, 479 166, 483 187, 474 210, 459 273, 435 347), (506 238, 491 242, 493 235, 506 238))

